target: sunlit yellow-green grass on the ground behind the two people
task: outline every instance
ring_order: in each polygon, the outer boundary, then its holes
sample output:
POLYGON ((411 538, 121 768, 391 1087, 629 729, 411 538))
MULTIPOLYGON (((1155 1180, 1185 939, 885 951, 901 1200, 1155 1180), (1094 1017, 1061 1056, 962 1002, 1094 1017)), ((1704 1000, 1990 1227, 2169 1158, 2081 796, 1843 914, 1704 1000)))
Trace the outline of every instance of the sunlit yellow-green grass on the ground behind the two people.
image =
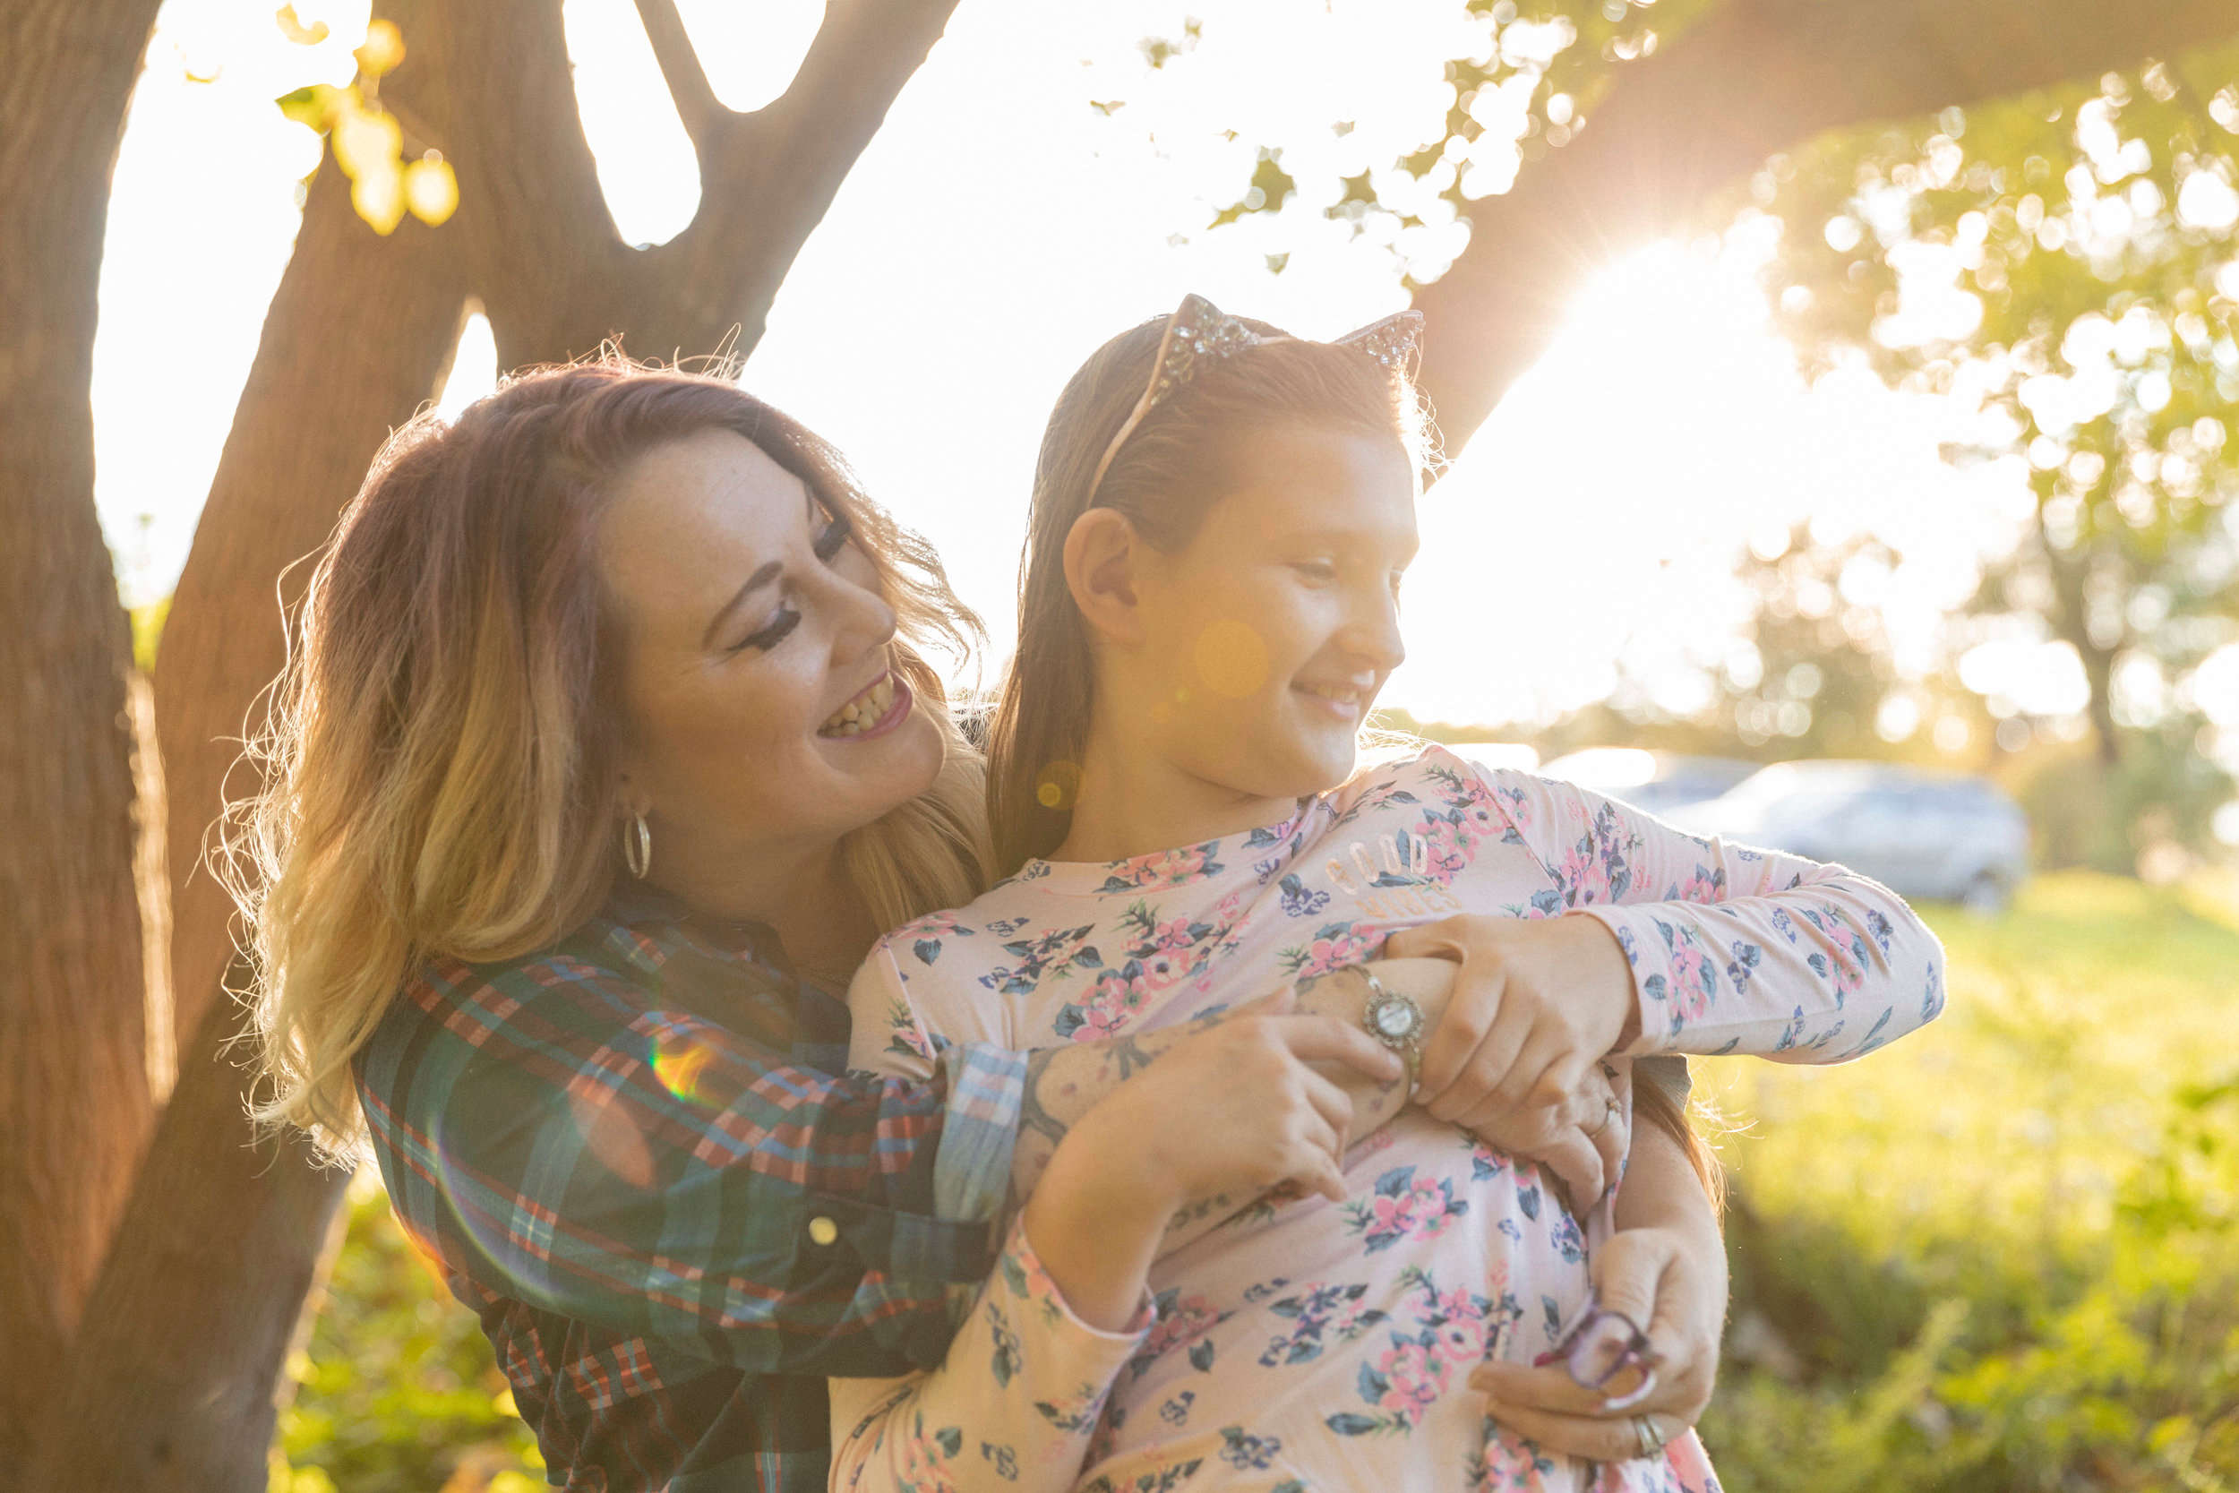
MULTIPOLYGON (((1932 1027, 1847 1068, 1704 1065, 1737 1126, 1704 1421, 1731 1493, 2239 1493, 2235 891, 2055 875, 1999 918, 1930 909, 1932 1027)), ((540 1486, 367 1182, 275 1491, 540 1486)))

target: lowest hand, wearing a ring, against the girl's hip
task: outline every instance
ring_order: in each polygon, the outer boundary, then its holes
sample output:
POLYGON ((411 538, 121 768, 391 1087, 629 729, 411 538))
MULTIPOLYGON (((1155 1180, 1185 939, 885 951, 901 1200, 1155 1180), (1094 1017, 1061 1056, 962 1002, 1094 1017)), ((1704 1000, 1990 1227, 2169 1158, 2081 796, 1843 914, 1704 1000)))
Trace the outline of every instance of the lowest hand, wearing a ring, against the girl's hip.
POLYGON ((1693 1428, 1717 1383, 1717 1332, 1726 1314, 1724 1258, 1713 1269, 1693 1258, 1675 1229, 1619 1229, 1590 1265, 1605 1312, 1648 1330, 1657 1388, 1630 1410, 1605 1410, 1599 1390, 1581 1388, 1561 1363, 1480 1363, 1469 1386, 1489 1397, 1484 1412, 1502 1430, 1547 1450, 1594 1462, 1641 1455, 1637 1417, 1659 1442, 1693 1428))

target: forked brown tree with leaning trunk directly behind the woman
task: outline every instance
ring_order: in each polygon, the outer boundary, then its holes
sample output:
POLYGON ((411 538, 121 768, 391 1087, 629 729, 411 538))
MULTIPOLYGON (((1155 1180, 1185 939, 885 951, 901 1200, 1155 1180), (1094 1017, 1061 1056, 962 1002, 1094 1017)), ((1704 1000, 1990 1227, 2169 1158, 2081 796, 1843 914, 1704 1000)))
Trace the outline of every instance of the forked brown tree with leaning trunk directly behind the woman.
MULTIPOLYGON (((674 22, 669 0, 645 4, 674 22)), ((253 788, 237 739, 284 660, 287 566, 318 548, 390 428, 434 392, 468 295, 506 365, 580 356, 611 334, 701 351, 739 322, 746 351, 952 9, 833 0, 786 98, 755 116, 694 110, 701 213, 672 244, 636 251, 598 193, 555 0, 376 4, 410 47, 383 101, 455 163, 461 206, 441 228, 407 219, 381 240, 340 172, 320 170, 172 598, 157 727, 179 1081, 87 1305, 40 1493, 262 1486, 273 1381, 345 1182, 300 1144, 249 1146, 246 1074, 240 1054, 222 1057, 242 1025, 224 994, 233 909, 199 868, 224 797, 253 788), (103 1415, 119 1403, 128 1424, 103 1415)))

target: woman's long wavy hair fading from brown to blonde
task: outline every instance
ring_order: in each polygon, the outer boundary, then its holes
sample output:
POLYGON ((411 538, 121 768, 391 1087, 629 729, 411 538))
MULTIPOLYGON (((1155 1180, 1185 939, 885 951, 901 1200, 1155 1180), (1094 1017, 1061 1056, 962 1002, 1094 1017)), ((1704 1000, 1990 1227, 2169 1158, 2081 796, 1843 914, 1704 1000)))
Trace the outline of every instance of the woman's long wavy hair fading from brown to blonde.
POLYGON ((900 622, 893 667, 945 734, 934 786, 840 842, 871 915, 896 927, 985 886, 983 763, 925 660, 969 654, 981 627, 931 546, 734 383, 611 351, 526 372, 390 439, 293 618, 249 752, 262 788, 228 806, 224 857, 255 969, 260 1124, 354 1153, 352 1061, 410 974, 519 958, 607 900, 620 716, 598 526, 625 466, 701 430, 746 436, 851 519, 900 622))

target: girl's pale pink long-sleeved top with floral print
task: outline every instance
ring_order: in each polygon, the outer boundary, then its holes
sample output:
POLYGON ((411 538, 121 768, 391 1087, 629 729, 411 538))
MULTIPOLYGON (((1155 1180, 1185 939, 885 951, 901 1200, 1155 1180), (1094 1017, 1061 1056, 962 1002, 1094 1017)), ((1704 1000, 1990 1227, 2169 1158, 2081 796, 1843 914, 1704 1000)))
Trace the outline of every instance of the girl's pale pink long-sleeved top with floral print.
MULTIPOLYGON (((1283 824, 1028 862, 896 929, 849 992, 851 1063, 922 1077, 949 1043, 1173 1025, 1458 911, 1608 922, 1634 974, 1632 1054, 1836 1063, 1943 1003, 1934 936, 1861 875, 1426 748, 1283 824)), ((1534 1164, 1406 1110, 1346 1182, 1341 1204, 1261 1200, 1160 1260, 1155 1316, 1128 1334, 1079 1323, 1014 1229, 940 1370, 833 1381, 833 1489, 1717 1486, 1693 1435, 1592 1466, 1505 1435, 1467 1388, 1484 1356, 1545 1352, 1587 1292, 1587 1231, 1534 1164)))

